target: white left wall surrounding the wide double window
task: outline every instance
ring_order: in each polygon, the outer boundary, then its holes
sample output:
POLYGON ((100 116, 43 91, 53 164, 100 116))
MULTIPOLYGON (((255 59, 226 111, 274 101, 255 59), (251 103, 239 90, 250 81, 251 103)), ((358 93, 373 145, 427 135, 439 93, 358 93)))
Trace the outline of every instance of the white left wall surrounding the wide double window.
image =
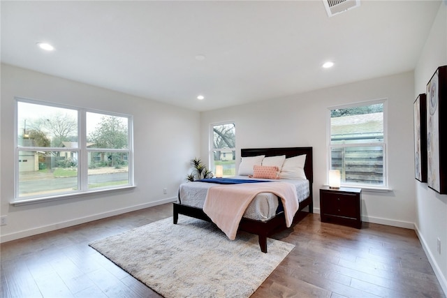
POLYGON ((8 225, 0 230, 1 241, 171 202, 177 198, 178 186, 189 172, 189 161, 199 154, 199 112, 31 70, 1 65, 0 107, 0 214, 8 216, 8 225), (14 198, 15 96, 133 115, 136 188, 17 207, 11 205, 14 198), (163 195, 163 188, 168 189, 168 194, 163 195))

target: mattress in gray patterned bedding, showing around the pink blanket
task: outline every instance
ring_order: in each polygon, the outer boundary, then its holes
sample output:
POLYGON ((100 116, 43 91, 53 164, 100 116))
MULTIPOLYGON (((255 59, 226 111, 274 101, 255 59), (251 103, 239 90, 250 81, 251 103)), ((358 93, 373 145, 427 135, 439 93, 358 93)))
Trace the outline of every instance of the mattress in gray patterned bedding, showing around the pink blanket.
MULTIPOLYGON (((232 177, 235 179, 250 179, 247 176, 232 177)), ((270 180, 258 179, 256 180, 270 180)), ((295 185, 298 202, 302 202, 309 197, 309 180, 293 180, 293 179, 275 179, 272 181, 281 181, 295 185)), ((221 184, 212 184, 207 182, 187 182, 179 187, 178 203, 202 209, 207 196, 208 188, 212 186, 220 186, 221 184)), ((272 193, 259 193, 254 200, 251 201, 249 207, 245 210, 244 218, 250 218, 257 221, 267 221, 277 214, 279 207, 279 198, 272 193)))

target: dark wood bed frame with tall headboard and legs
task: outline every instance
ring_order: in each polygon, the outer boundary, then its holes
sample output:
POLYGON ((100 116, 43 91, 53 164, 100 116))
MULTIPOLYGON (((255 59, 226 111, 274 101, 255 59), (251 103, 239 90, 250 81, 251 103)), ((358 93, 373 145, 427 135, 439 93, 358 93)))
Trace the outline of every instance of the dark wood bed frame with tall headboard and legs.
MULTIPOLYGON (((309 207, 309 213, 314 212, 314 202, 312 200, 312 182, 314 181, 313 164, 312 164, 312 147, 286 147, 286 148, 259 148, 259 149, 241 149, 241 156, 278 156, 286 155, 286 158, 307 154, 305 163, 305 174, 309 179, 309 197, 300 202, 300 209, 295 214, 302 211, 305 207, 309 207)), ((180 199, 180 198, 179 198, 180 199)), ((181 202, 179 200, 179 202, 181 202)), ((211 219, 203 212, 202 209, 190 207, 177 202, 173 203, 174 224, 177 224, 179 214, 200 218, 204 221, 211 221, 211 219)), ((259 246, 263 253, 267 253, 267 237, 270 237, 276 232, 286 229, 286 218, 284 212, 277 214, 268 221, 256 221, 249 218, 242 218, 239 224, 239 230, 258 235, 259 246)))

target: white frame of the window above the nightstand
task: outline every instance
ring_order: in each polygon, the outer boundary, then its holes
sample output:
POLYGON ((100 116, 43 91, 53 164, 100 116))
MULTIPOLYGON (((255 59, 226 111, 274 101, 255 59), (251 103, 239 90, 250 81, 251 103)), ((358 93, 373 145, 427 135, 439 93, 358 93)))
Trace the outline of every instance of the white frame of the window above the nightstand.
POLYGON ((327 152, 327 163, 326 163, 326 184, 329 181, 329 170, 331 170, 332 165, 332 148, 347 148, 347 147, 372 147, 372 146, 383 146, 383 184, 361 184, 355 182, 340 182, 342 187, 353 187, 362 188, 370 191, 389 191, 388 184, 388 98, 380 98, 376 100, 366 100, 362 102, 350 103, 346 105, 335 105, 328 107, 326 114, 326 152, 327 152), (374 105, 382 103, 383 104, 383 142, 362 142, 355 144, 331 144, 331 110, 336 109, 346 109, 350 107, 361 107, 367 105, 374 105))

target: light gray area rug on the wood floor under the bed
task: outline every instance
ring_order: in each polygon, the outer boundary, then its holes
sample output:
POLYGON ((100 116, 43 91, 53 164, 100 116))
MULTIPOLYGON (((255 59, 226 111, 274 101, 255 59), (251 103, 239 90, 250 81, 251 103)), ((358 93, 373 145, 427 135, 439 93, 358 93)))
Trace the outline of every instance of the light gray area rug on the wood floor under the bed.
POLYGON ((234 241, 211 223, 179 216, 89 244, 164 297, 249 297, 293 244, 240 232, 234 241))

